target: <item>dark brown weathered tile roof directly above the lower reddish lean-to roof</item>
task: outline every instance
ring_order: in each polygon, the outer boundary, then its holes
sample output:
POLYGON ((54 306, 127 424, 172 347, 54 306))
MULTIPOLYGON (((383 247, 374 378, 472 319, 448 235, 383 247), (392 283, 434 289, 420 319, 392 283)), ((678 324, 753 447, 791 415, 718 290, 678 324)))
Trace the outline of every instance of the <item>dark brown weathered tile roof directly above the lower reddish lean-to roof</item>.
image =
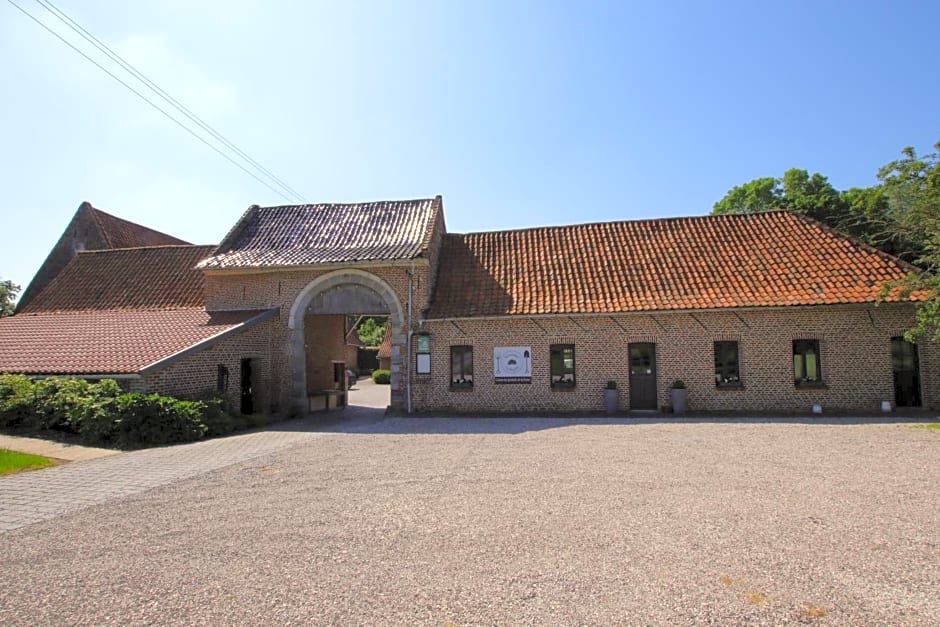
POLYGON ((157 246, 83 251, 21 313, 83 309, 201 307, 196 264, 214 246, 157 246))

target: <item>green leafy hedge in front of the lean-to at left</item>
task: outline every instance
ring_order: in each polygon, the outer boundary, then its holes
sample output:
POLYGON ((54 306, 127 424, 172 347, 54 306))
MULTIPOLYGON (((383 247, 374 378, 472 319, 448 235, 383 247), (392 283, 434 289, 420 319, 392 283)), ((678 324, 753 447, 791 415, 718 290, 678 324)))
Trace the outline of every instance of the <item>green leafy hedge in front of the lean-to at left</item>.
POLYGON ((192 442, 239 426, 220 399, 124 393, 116 382, 0 375, 0 428, 78 434, 121 448, 192 442))

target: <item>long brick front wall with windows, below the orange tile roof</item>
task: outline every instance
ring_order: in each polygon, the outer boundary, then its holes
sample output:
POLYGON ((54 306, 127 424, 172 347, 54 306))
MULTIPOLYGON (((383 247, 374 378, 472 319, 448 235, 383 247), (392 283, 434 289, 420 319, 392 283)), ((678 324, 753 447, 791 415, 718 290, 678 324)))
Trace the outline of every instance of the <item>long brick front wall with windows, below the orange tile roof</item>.
MULTIPOLYGON (((894 400, 890 338, 913 320, 904 305, 754 309, 739 312, 657 313, 500 320, 429 321, 431 374, 416 376, 413 402, 420 411, 601 411, 601 389, 618 383, 620 408, 630 407, 627 347, 656 344, 659 405, 669 403, 670 383, 688 386, 690 410, 808 412, 877 411, 894 400), (825 388, 799 389, 793 381, 794 339, 820 343, 825 388), (738 342, 743 386, 715 385, 714 342, 738 342), (473 346, 474 387, 450 389, 450 346, 473 346), (574 344, 576 386, 552 389, 549 346, 574 344), (493 348, 528 346, 530 384, 495 384, 493 348)), ((940 406, 940 347, 919 347, 925 406, 940 406)), ((414 372, 414 361, 409 367, 414 372)))

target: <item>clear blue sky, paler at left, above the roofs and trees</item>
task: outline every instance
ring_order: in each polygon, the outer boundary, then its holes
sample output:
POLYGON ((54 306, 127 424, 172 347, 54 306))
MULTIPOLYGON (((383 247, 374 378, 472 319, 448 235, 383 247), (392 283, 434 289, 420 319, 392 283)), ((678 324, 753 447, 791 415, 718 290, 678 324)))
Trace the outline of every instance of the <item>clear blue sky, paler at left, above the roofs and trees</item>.
MULTIPOLYGON (((702 215, 790 167, 868 186, 940 139, 937 2, 56 6, 307 201, 442 194, 452 232, 702 215)), ((8 2, 0 81, 2 278, 83 200, 194 243, 287 202, 8 2)))

